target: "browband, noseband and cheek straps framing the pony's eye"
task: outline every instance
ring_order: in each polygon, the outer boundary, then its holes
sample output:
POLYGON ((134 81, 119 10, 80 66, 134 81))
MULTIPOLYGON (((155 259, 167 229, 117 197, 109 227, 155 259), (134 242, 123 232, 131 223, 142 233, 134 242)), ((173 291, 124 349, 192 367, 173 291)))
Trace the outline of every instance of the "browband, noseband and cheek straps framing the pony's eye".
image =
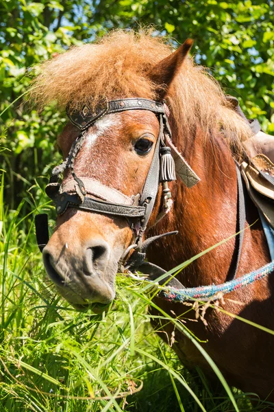
MULTIPOLYGON (((71 122, 80 130, 79 136, 73 144, 73 147, 69 152, 68 161, 66 162, 66 168, 71 169, 71 174, 73 175, 73 179, 75 179, 76 194, 55 193, 53 200, 56 203, 56 213, 60 215, 66 211, 67 207, 77 207, 77 209, 85 211, 97 211, 112 216, 138 219, 140 220, 140 236, 138 236, 141 238, 142 233, 144 233, 147 227, 147 222, 151 216, 155 198, 158 194, 160 179, 160 148, 163 145, 164 134, 171 134, 168 119, 164 112, 164 104, 147 99, 112 100, 111 102, 108 102, 106 107, 101 110, 99 109, 94 113, 91 113, 85 106, 80 112, 71 114, 67 111, 67 114, 71 122), (147 174, 147 179, 142 194, 140 195, 138 205, 117 205, 108 201, 99 201, 98 199, 87 197, 84 184, 81 179, 77 178, 73 168, 74 159, 84 143, 85 132, 101 117, 110 113, 121 113, 129 110, 149 110, 158 116, 160 122, 160 130, 155 145, 153 159, 151 161, 151 167, 147 174)), ((58 174, 60 174, 59 170, 58 174)), ((56 176, 54 170, 53 175, 56 176)), ((49 185, 51 185, 51 183, 49 183, 49 185)), ((50 187, 48 186, 47 193, 49 190, 50 187)))

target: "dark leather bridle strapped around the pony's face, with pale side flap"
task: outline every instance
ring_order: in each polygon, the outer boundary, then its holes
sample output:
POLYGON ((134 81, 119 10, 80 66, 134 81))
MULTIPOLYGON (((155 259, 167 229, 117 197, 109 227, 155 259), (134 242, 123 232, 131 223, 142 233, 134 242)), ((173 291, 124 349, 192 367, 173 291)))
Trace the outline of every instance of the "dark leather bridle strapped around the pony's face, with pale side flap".
MULTIPOLYGON (((135 239, 125 253, 123 253, 119 266, 120 269, 127 269, 128 271, 141 270, 147 246, 154 240, 162 238, 162 236, 177 233, 177 231, 162 233, 143 241, 160 183, 162 183, 162 209, 156 218, 156 222, 171 209, 173 201, 168 183, 175 181, 175 172, 179 174, 188 187, 195 185, 199 181, 197 174, 193 172, 172 143, 171 128, 168 120, 169 109, 165 102, 156 102, 142 98, 126 98, 107 102, 95 111, 90 111, 88 106, 84 106, 81 111, 71 112, 68 107, 66 113, 71 123, 78 128, 79 135, 71 146, 69 156, 53 169, 51 179, 46 187, 47 195, 55 203, 56 214, 60 216, 64 214, 68 207, 73 207, 84 211, 126 218, 135 234, 135 239), (130 110, 151 111, 158 117, 160 124, 153 158, 142 193, 133 194, 131 197, 125 196, 119 190, 103 185, 94 179, 77 176, 74 170, 75 158, 82 148, 88 128, 105 115, 130 110), (71 170, 72 178, 65 184, 60 184, 60 174, 67 169, 71 170), (87 194, 92 197, 86 196, 87 194), (131 253, 130 259, 126 260, 127 255, 132 249, 134 249, 134 252, 131 253)), ((42 251, 49 240, 47 217, 44 214, 36 216, 36 237, 40 251, 42 251)), ((147 264, 148 262, 145 263, 146 267, 147 264)), ((164 273, 162 268, 158 268, 158 266, 153 264, 149 265, 151 265, 149 267, 150 271, 157 272, 158 275, 164 273), (156 268, 160 269, 160 271, 156 268)))

